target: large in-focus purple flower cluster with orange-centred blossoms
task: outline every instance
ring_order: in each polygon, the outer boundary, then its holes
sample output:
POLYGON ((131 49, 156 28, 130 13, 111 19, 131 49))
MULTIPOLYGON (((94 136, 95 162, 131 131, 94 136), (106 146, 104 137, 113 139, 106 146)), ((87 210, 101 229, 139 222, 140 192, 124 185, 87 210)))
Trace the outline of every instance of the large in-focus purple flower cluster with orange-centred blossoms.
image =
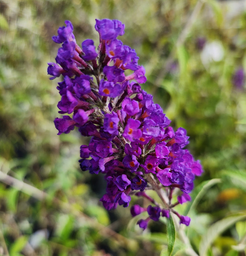
POLYGON ((118 20, 96 20, 99 46, 87 39, 82 49, 73 35, 73 26, 58 29, 53 36, 58 49, 56 63, 48 63, 48 74, 63 76, 57 89, 61 95, 58 108, 62 118, 54 120, 58 134, 78 127, 82 136, 92 136, 89 145, 80 148, 80 167, 92 174, 105 174, 106 193, 100 201, 108 210, 117 205, 127 207, 132 195, 150 201, 147 208, 133 205, 132 216, 147 212, 149 217, 138 224, 145 229, 150 219, 169 217, 170 211, 189 225, 189 217, 173 210, 190 200, 195 175, 201 175, 199 161, 184 147, 186 130, 174 131, 153 97, 141 90, 145 69, 138 65, 135 50, 117 39, 125 25, 118 20), (125 76, 125 70, 132 74, 125 76), (70 115, 68 115, 70 114, 70 115), (145 193, 145 188, 161 189, 167 200, 158 204, 145 193), (173 191, 179 191, 177 197, 173 191), (177 198, 172 203, 172 198, 177 198))

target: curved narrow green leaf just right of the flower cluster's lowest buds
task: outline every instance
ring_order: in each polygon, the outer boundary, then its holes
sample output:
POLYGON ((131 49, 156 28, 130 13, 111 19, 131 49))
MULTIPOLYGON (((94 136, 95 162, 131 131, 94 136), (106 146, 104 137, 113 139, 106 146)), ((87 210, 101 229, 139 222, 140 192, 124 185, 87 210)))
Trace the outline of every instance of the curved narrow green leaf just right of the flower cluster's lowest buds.
POLYGON ((220 179, 205 180, 199 186, 197 186, 192 192, 192 199, 193 199, 192 203, 188 204, 188 207, 184 215, 185 216, 188 215, 189 211, 191 209, 194 209, 197 206, 197 204, 199 203, 199 201, 201 200, 201 198, 204 196, 204 194, 209 188, 211 188, 213 185, 220 182, 221 182, 220 179))

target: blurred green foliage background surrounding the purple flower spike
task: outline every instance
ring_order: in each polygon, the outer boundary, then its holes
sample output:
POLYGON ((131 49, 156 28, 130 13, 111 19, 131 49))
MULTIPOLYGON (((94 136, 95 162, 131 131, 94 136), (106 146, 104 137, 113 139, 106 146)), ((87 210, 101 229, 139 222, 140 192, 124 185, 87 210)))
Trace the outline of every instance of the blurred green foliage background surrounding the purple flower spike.
MULTIPOLYGON (((204 174, 179 211, 199 255, 245 255, 246 7, 215 0, 0 0, 0 255, 167 255, 165 223, 144 232, 129 209, 107 212, 103 176, 81 173, 77 131, 56 135, 51 36, 69 19, 77 43, 95 19, 125 23, 152 93, 204 174), (200 193, 199 193, 200 192, 200 193)), ((132 202, 136 202, 133 198, 132 202)), ((144 202, 143 202, 144 203, 144 202)), ((186 255, 177 237, 173 255, 186 255), (181 250, 181 251, 179 251, 181 250)))

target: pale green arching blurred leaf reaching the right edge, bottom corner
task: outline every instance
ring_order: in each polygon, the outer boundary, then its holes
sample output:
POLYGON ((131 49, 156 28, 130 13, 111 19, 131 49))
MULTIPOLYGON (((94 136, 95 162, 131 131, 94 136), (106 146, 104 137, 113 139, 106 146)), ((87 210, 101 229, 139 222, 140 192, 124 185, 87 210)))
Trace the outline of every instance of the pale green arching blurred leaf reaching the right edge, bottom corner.
POLYGON ((241 214, 233 215, 230 217, 226 217, 222 220, 217 221, 213 225, 211 225, 201 239, 200 246, 199 246, 199 255, 206 256, 209 246, 216 239, 216 237, 218 237, 222 232, 224 232, 230 226, 235 224, 237 221, 240 221, 244 218, 246 218, 245 212, 241 214))

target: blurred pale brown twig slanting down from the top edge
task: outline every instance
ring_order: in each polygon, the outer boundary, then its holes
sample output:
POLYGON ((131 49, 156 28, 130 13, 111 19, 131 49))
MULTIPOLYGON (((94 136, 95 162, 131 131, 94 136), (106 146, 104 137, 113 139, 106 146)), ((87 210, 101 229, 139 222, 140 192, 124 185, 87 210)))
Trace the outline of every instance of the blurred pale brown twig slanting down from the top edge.
POLYGON ((181 46, 185 42, 185 39, 187 38, 187 36, 192 28, 192 25, 195 23, 196 18, 198 16, 198 14, 200 13, 200 10, 201 10, 204 2, 205 2, 205 0, 198 0, 196 2, 196 6, 195 6, 192 14, 190 15, 188 21, 186 22, 185 27, 181 31, 181 33, 177 39, 177 42, 175 44, 175 47, 173 47, 171 53, 169 54, 168 58, 166 59, 165 63, 163 64, 163 66, 160 69, 159 75, 157 76, 157 79, 155 82, 156 86, 160 87, 161 81, 163 80, 165 75, 169 72, 170 65, 174 61, 176 49, 177 49, 177 47, 181 46))

